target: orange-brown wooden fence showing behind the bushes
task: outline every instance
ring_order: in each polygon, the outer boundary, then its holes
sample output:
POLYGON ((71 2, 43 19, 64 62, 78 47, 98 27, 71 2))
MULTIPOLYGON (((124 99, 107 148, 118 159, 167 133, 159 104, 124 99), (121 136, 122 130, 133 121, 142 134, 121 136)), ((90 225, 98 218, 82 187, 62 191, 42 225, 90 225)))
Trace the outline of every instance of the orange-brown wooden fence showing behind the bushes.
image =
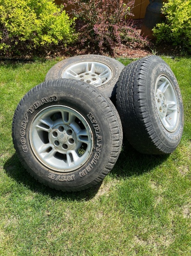
MULTIPOLYGON (((115 0, 114 0, 115 1, 115 0)), ((55 0, 55 3, 61 4, 64 1, 62 0, 55 0)), ((124 0, 124 3, 127 2, 127 0, 124 0)), ((135 0, 134 1, 134 8, 133 8, 133 19, 144 19, 145 17, 145 11, 146 7, 149 4, 149 0, 135 0)), ((66 10, 69 10, 70 6, 66 8, 66 10)))

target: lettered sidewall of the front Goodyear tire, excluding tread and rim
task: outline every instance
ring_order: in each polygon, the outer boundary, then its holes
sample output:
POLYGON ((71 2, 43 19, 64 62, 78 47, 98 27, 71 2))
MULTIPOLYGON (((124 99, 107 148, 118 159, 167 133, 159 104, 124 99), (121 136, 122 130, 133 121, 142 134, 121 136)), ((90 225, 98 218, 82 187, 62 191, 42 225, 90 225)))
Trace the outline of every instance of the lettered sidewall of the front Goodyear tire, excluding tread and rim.
POLYGON ((71 183, 72 188, 79 189, 95 180, 107 165, 111 149, 109 130, 101 109, 96 104, 92 108, 92 100, 87 95, 83 94, 82 97, 79 93, 76 96, 69 87, 64 88, 64 91, 61 87, 45 88, 32 94, 19 109, 14 126, 14 144, 27 171, 37 180, 56 189, 70 190, 71 183), (29 130, 35 116, 41 110, 54 105, 63 105, 78 111, 89 124, 93 135, 93 147, 88 161, 81 168, 67 173, 51 170, 39 162, 29 141, 29 130))

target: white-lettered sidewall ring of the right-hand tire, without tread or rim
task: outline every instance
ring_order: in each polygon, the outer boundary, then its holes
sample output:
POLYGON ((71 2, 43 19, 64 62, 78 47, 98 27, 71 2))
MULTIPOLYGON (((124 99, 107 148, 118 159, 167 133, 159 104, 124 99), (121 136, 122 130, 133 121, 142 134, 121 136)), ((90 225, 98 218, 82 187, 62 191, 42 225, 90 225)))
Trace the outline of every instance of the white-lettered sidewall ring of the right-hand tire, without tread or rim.
POLYGON ((183 109, 183 101, 180 93, 180 89, 178 86, 178 82, 176 80, 175 75, 173 74, 171 68, 166 64, 165 61, 156 59, 152 62, 152 65, 149 67, 147 72, 146 84, 150 85, 150 87, 146 87, 146 98, 148 104, 148 111, 151 117, 151 121, 153 124, 153 128, 160 140, 163 141, 167 147, 172 148, 172 146, 176 147, 181 139, 183 133, 184 126, 184 109, 183 109), (159 76, 166 76, 172 84, 174 92, 176 94, 177 102, 178 102, 178 125, 173 132, 169 132, 163 126, 160 121, 158 110, 155 102, 155 85, 159 76))

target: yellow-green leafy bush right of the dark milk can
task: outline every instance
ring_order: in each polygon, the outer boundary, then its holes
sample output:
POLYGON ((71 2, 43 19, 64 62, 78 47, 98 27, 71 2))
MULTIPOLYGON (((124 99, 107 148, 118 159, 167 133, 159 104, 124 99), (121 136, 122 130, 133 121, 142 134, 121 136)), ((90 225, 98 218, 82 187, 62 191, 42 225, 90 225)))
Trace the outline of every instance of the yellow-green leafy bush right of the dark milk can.
POLYGON ((153 28, 157 42, 172 43, 191 52, 191 0, 169 0, 162 12, 166 21, 153 28))

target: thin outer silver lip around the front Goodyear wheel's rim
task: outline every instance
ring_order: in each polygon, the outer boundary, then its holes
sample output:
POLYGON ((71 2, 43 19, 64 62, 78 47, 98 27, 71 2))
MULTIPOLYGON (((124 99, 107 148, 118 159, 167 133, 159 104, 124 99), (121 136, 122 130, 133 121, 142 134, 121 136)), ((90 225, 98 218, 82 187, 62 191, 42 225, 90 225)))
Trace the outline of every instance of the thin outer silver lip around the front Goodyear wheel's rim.
MULTIPOLYGON (((76 117, 78 117, 78 116, 76 116, 76 117)), ((82 120, 80 119, 80 121, 82 121, 82 120)), ((84 125, 84 123, 83 123, 83 125, 84 125)), ((85 125, 84 125, 84 126, 85 126, 85 125)), ((48 169, 50 169, 50 170, 53 170, 53 171, 60 172, 60 173, 71 173, 71 172, 73 172, 73 171, 75 171, 75 170, 81 168, 86 162, 88 162, 89 156, 91 155, 92 150, 93 150, 94 138, 93 138, 92 129, 90 128, 88 121, 83 117, 83 115, 81 115, 78 111, 76 111, 76 109, 70 108, 70 107, 65 106, 65 105, 53 105, 53 106, 49 106, 49 107, 47 107, 47 108, 42 109, 40 112, 38 112, 38 113, 34 116, 34 118, 33 118, 33 120, 32 120, 32 123, 31 123, 31 125, 30 125, 30 129, 29 129, 29 143, 30 143, 31 150, 32 150, 33 154, 35 155, 35 157, 36 157, 36 158, 38 159, 38 161, 39 161, 40 163, 42 163, 46 168, 48 168, 48 169), (76 166, 75 168, 69 168, 69 169, 67 169, 67 170, 58 169, 58 168, 53 168, 53 167, 49 166, 48 164, 46 164, 46 163, 38 156, 36 150, 33 148, 33 143, 32 143, 32 131, 31 131, 31 129, 32 129, 32 124, 34 123, 34 121, 36 120, 36 118, 37 118, 39 115, 41 115, 44 111, 46 111, 47 109, 49 109, 49 108, 57 108, 57 107, 59 107, 59 108, 60 108, 60 107, 61 107, 61 108, 69 108, 69 109, 71 109, 72 111, 75 111, 78 116, 81 116, 82 119, 83 119, 83 121, 85 122, 85 124, 86 124, 86 125, 88 126, 88 128, 89 128, 89 137, 90 137, 90 139, 91 139, 91 147, 90 147, 90 150, 89 150, 89 154, 86 156, 85 160, 84 160, 82 163, 78 164, 78 166, 76 166)), ((58 150, 58 152, 59 152, 59 150, 58 150)))

